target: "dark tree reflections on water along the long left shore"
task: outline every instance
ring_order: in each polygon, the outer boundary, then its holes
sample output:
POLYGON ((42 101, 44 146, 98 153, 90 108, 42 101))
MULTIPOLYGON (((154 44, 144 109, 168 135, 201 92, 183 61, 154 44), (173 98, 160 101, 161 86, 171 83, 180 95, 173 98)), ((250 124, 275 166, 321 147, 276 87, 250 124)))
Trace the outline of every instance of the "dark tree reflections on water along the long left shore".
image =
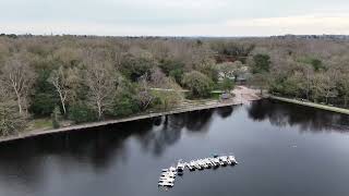
POLYGON ((43 164, 55 155, 64 157, 67 164, 88 163, 103 171, 111 159, 127 161, 124 143, 130 136, 139 140, 142 150, 160 156, 167 146, 180 139, 183 130, 207 132, 213 113, 214 110, 194 111, 2 144, 0 179, 10 175, 16 176, 10 180, 23 181, 26 185, 40 184, 37 181, 40 181, 43 164))

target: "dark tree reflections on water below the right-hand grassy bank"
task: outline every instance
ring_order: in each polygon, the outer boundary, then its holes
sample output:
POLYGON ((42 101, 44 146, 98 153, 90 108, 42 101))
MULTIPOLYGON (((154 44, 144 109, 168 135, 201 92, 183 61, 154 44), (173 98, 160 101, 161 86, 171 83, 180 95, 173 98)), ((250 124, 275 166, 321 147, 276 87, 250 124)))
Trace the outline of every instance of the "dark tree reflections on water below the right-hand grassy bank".
POLYGON ((349 117, 280 101, 261 100, 251 103, 249 117, 255 121, 269 121, 275 126, 300 126, 306 132, 349 132, 349 117))

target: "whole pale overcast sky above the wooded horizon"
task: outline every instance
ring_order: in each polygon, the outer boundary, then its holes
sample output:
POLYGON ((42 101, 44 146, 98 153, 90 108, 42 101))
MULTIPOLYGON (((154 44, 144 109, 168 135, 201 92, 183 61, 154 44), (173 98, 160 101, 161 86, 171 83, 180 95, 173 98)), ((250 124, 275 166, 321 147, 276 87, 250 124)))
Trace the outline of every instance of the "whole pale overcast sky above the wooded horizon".
POLYGON ((349 34, 349 0, 0 0, 0 33, 349 34))

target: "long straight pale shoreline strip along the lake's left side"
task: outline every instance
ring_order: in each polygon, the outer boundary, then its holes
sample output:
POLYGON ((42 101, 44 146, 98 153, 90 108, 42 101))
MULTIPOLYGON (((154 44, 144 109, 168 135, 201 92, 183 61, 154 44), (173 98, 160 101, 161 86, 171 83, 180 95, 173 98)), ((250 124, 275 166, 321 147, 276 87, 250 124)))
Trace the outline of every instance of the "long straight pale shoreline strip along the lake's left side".
MULTIPOLYGON (((254 100, 251 100, 254 101, 254 100)), ((79 125, 72 125, 61 128, 53 128, 53 130, 33 130, 27 131, 24 133, 20 133, 17 135, 12 136, 5 136, 0 137, 0 143, 7 143, 12 140, 19 140, 19 139, 25 139, 41 135, 49 135, 55 133, 63 133, 63 132, 71 132, 71 131, 82 131, 85 128, 92 128, 97 126, 106 126, 111 124, 118 124, 123 122, 131 122, 131 121, 137 121, 137 120, 144 120, 144 119, 152 119, 156 117, 163 117, 163 115, 170 115, 170 114, 177 114, 177 113, 185 113, 185 112, 192 112, 192 111, 201 111, 201 110, 208 110, 208 109, 215 109, 215 108, 225 108, 225 107, 231 107, 231 106, 239 106, 242 105, 241 102, 237 101, 229 101, 229 102, 216 102, 216 103, 203 103, 201 106, 190 107, 185 109, 173 109, 171 111, 165 111, 165 112, 155 112, 155 113, 147 113, 147 114, 141 114, 135 117, 129 117, 129 118, 122 118, 118 120, 107 120, 101 122, 92 122, 92 123, 85 123, 85 124, 79 124, 79 125)))

